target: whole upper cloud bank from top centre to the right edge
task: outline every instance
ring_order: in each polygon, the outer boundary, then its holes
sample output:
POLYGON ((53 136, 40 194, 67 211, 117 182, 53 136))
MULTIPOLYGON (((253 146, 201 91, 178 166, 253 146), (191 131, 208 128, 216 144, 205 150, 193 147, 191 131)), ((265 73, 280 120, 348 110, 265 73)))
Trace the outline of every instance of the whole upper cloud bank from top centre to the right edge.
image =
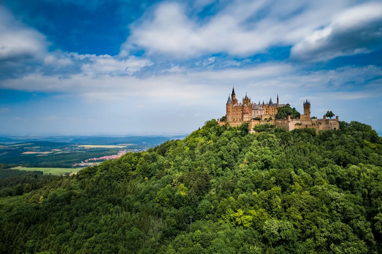
POLYGON ((377 2, 237 0, 206 18, 187 7, 165 2, 152 8, 131 25, 122 52, 143 48, 173 58, 222 52, 246 57, 291 45, 295 57, 327 60, 373 50, 382 37, 377 2))

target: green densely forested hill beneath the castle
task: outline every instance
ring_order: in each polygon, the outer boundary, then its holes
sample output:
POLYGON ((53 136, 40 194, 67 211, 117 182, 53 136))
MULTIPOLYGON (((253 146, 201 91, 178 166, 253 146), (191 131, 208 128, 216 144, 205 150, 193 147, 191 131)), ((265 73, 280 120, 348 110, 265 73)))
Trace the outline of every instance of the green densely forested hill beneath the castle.
POLYGON ((1 198, 0 250, 382 253, 382 138, 359 122, 260 129, 208 121, 1 198))

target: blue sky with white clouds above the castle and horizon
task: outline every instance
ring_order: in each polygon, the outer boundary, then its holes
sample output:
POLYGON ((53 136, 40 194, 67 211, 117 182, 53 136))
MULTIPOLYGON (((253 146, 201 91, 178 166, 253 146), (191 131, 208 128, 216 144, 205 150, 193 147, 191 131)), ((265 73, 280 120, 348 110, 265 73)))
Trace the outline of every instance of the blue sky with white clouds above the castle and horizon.
POLYGON ((232 87, 382 130, 382 2, 0 1, 0 134, 190 133, 232 87))

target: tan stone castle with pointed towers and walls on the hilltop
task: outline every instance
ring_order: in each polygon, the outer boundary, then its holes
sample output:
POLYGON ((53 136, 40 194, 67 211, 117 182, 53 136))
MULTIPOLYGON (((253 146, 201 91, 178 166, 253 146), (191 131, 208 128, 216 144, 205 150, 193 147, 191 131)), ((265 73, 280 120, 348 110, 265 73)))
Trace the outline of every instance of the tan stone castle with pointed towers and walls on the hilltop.
POLYGON ((304 114, 300 115, 299 119, 275 119, 278 108, 282 108, 285 104, 278 103, 278 95, 276 103, 272 103, 272 98, 269 102, 262 104, 251 103, 251 98, 247 94, 243 97, 242 102, 238 102, 235 95, 235 90, 232 88, 231 96, 228 96, 226 103, 225 121, 220 121, 220 125, 229 124, 230 126, 238 126, 243 122, 249 123, 249 129, 252 129, 256 124, 273 124, 277 126, 286 127, 288 131, 294 129, 314 128, 318 133, 319 130, 335 130, 339 128, 338 116, 335 119, 327 119, 325 116, 322 119, 311 117, 311 104, 306 100, 303 103, 304 114))

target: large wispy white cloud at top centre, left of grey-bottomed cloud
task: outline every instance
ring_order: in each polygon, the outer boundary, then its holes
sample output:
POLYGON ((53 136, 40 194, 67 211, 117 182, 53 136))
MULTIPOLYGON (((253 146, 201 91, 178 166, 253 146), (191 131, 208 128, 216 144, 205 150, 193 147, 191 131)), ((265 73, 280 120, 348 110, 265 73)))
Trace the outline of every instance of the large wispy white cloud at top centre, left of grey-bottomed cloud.
MULTIPOLYGON (((121 52, 143 48, 173 58, 220 52, 249 56, 273 45, 298 44, 348 6, 349 1, 237 0, 201 19, 189 16, 185 5, 165 2, 131 26, 121 52)), ((342 22, 341 16, 336 20, 342 22)))

